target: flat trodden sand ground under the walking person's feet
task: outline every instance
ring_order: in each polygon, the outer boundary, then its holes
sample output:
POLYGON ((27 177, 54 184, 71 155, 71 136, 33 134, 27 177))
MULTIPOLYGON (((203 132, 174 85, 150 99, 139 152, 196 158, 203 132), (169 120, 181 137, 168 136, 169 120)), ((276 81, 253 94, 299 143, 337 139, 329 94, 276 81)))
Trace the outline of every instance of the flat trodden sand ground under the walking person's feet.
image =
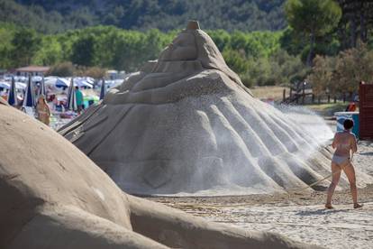
MULTIPOLYGON (((373 143, 359 142, 353 163, 373 175, 373 143)), ((358 179, 359 181, 359 176, 358 179)), ((359 189, 361 209, 353 209, 350 190, 336 191, 334 209, 323 208, 325 192, 224 197, 149 198, 215 222, 277 232, 327 248, 373 248, 373 185, 359 189)))

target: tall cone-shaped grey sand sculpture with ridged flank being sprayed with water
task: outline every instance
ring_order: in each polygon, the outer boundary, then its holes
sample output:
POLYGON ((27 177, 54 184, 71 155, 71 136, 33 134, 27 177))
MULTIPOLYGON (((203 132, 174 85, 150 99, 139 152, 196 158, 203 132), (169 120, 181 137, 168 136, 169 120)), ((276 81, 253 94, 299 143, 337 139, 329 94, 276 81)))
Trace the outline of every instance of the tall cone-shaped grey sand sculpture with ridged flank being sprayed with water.
POLYGON ((252 97, 196 22, 59 133, 131 193, 273 192, 330 173, 330 152, 252 97))

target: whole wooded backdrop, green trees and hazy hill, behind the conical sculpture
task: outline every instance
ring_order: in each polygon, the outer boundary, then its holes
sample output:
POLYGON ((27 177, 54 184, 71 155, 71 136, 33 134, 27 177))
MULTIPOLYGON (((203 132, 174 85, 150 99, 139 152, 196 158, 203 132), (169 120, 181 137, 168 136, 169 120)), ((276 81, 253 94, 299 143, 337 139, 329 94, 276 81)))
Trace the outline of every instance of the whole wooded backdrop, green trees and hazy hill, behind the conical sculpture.
POLYGON ((360 80, 373 81, 373 0, 199 2, 0 0, 0 18, 6 20, 0 23, 0 69, 49 65, 65 76, 83 69, 138 70, 157 59, 194 9, 193 17, 246 86, 306 79, 317 94, 338 94, 355 91, 360 80), (110 23, 110 14, 122 16, 115 12, 119 5, 123 19, 110 23), (259 17, 261 12, 268 16, 259 17), (205 14, 213 16, 210 21, 205 14), (277 14, 278 22, 268 22, 277 14), (249 25, 252 18, 256 26, 249 25))

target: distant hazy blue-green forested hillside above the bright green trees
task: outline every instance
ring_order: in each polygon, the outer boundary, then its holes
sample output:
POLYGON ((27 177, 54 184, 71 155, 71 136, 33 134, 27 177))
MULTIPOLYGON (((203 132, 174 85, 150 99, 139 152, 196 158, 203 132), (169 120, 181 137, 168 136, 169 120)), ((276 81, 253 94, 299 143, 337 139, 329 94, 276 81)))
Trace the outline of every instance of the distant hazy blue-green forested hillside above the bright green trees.
POLYGON ((271 30, 287 26, 285 0, 0 0, 0 21, 39 32, 61 32, 93 25, 146 31, 183 28, 197 19, 204 29, 271 30), (24 22, 27 20, 28 22, 24 22), (47 21, 47 22, 45 22, 47 21))

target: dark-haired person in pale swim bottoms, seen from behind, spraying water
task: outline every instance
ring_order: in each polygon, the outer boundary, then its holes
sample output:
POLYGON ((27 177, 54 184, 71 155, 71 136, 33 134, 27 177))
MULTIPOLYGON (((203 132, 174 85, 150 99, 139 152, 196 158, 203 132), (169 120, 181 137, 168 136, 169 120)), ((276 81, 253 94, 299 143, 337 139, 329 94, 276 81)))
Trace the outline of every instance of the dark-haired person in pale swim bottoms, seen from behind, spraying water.
POLYGON ((334 189, 337 187, 341 178, 341 171, 344 171, 349 182, 350 190, 353 200, 353 208, 361 208, 362 205, 358 203, 358 189, 356 188, 355 169, 351 163, 350 151, 352 155, 358 151, 355 134, 351 133, 353 121, 346 119, 343 122, 344 131, 335 134, 332 141, 332 148, 335 152, 332 156, 332 183, 328 189, 328 196, 326 198, 325 208, 332 208, 332 195, 334 189))

